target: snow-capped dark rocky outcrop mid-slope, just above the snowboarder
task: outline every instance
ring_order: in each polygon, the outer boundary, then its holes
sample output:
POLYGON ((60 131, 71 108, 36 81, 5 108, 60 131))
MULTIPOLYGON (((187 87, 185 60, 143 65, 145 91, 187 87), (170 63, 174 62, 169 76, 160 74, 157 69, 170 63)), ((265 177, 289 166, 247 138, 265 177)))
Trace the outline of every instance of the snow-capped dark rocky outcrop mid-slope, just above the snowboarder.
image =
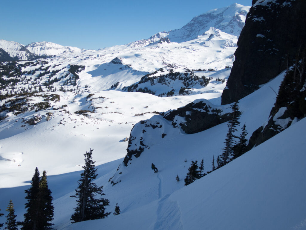
POLYGON ((133 156, 139 157, 145 149, 172 136, 171 133, 201 132, 229 121, 230 112, 230 108, 212 105, 207 100, 199 99, 184 107, 169 110, 146 121, 140 121, 132 128, 127 154, 123 162, 127 166, 133 156))

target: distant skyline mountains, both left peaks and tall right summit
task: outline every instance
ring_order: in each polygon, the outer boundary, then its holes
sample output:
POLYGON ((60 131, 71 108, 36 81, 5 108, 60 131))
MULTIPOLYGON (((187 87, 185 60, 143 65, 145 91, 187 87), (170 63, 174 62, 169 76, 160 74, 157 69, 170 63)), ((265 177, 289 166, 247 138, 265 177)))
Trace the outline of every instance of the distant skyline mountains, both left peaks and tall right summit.
MULTIPOLYGON (((138 40, 123 47, 135 48, 145 47, 156 43, 186 42, 203 36, 211 28, 215 28, 224 33, 239 36, 244 26, 246 14, 250 7, 234 3, 221 9, 209 10, 199 16, 194 17, 188 24, 181 29, 170 30, 169 32, 160 32, 148 39, 138 40)), ((234 42, 235 44, 235 42, 234 42)), ((41 57, 59 55, 64 52, 85 51, 77 47, 62 46, 52 42, 33 42, 26 46, 14 42, 0 40, 0 61, 9 60, 34 60, 41 57), (11 57, 11 58, 10 58, 11 57)))

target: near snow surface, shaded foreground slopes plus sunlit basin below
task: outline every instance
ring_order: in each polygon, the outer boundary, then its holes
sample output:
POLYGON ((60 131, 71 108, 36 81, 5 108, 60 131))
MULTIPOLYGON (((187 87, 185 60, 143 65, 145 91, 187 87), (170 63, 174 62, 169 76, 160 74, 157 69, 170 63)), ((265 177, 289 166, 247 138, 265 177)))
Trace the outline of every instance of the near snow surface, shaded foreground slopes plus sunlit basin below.
MULTIPOLYGON (((274 92, 270 87, 277 91, 283 75, 241 99, 240 122, 246 123, 248 137, 267 120, 274 104, 274 92)), ((214 102, 215 94, 159 98, 151 94, 107 90, 93 92, 94 95, 88 98, 89 93, 61 92, 61 101, 54 103, 54 107, 66 104, 66 110, 71 114, 62 109, 39 111, 42 121, 26 127, 21 127, 22 120, 32 114, 12 114, 11 120, 0 124, 0 207, 4 210, 12 199, 17 220, 23 219, 24 190, 29 187, 37 166, 41 172, 47 171, 54 198, 56 229, 99 229, 100 226, 106 229, 305 227, 305 119, 225 167, 184 187, 192 160, 203 158, 205 171, 211 170, 213 155, 216 159, 222 152, 226 123, 203 132, 185 134, 172 128, 162 116, 155 115, 150 121, 160 122, 167 135, 161 138, 159 133, 152 132, 149 143, 146 143, 150 149, 139 158, 133 157, 127 167, 122 160, 128 143, 122 139, 129 137, 133 124, 152 116, 148 112, 175 109, 200 98, 214 102), (89 117, 73 113, 80 109, 92 110, 92 107, 101 108, 89 117), (48 111, 54 113, 50 121, 45 120, 48 111), (144 115, 134 116, 137 113, 144 115), (95 183, 104 186, 105 197, 110 200, 107 211, 113 211, 118 203, 121 214, 71 224, 75 199, 69 196, 77 187, 83 154, 89 148, 94 149, 93 160, 98 168, 95 183), (151 163, 159 169, 157 174, 151 170, 151 163), (180 176, 180 182, 175 180, 176 175, 180 176), (114 186, 108 182, 111 177, 118 182, 114 186)), ((229 105, 220 107, 226 110, 229 105)), ((3 217, 0 222, 5 222, 3 217)))

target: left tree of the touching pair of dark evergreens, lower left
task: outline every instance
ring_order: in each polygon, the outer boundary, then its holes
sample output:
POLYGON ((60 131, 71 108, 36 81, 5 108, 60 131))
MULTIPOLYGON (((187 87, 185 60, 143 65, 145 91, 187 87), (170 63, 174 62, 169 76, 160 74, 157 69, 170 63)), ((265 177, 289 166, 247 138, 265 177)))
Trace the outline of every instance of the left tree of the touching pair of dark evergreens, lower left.
POLYGON ((39 171, 37 167, 35 168, 31 185, 32 186, 29 189, 24 191, 27 194, 25 198, 28 202, 25 204, 27 211, 24 213, 24 221, 21 223, 22 230, 37 229, 37 210, 39 209, 37 205, 37 197, 39 194, 39 171))

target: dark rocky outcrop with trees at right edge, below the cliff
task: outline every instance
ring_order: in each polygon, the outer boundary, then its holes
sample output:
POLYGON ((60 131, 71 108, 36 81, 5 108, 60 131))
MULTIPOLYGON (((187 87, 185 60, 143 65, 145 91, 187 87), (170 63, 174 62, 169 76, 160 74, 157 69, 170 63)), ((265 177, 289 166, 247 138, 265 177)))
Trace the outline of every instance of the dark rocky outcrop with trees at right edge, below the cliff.
POLYGON ((253 132, 247 150, 257 146, 306 117, 306 42, 297 50, 296 63, 289 67, 266 124, 253 132))

